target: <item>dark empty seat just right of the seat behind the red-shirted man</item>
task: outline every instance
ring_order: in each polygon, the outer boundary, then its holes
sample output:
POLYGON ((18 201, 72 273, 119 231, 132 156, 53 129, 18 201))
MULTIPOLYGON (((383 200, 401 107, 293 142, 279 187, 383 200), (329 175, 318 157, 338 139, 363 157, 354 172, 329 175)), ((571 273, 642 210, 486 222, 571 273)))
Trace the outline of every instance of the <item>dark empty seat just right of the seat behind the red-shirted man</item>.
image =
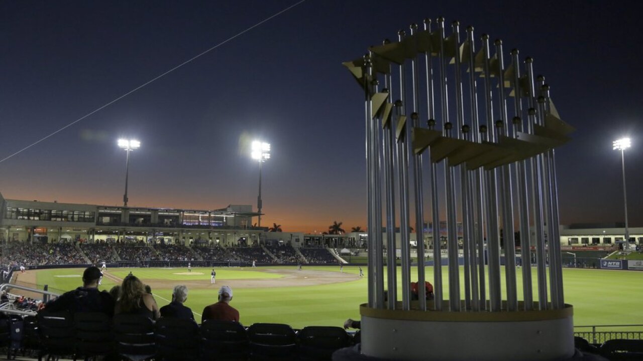
POLYGON ((296 335, 291 326, 255 323, 248 328, 250 360, 296 360, 296 335))

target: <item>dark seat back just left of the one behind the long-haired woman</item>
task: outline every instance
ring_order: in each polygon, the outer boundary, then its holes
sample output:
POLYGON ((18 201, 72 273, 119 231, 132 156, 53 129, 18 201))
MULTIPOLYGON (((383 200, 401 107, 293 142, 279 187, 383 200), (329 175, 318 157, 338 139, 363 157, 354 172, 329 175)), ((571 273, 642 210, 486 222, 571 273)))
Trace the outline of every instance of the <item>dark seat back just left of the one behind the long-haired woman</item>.
POLYGON ((88 358, 114 351, 111 320, 105 313, 78 312, 74 315, 74 328, 77 356, 88 358))

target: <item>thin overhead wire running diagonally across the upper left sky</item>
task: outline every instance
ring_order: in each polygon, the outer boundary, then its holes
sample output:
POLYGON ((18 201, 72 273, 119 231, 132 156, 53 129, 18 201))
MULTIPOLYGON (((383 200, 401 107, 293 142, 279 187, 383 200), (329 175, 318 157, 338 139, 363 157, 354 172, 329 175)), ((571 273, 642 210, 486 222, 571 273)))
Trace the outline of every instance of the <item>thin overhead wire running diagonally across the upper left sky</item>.
POLYGON ((134 89, 132 89, 131 91, 126 92, 126 93, 125 93, 125 94, 123 94, 122 96, 119 96, 118 98, 115 98, 114 100, 109 101, 108 103, 105 103, 105 105, 102 105, 101 107, 98 107, 98 108, 96 108, 95 110, 92 110, 91 112, 89 112, 89 113, 85 114, 84 116, 82 116, 82 117, 80 117, 80 118, 76 119, 75 121, 72 121, 72 122, 71 122, 71 123, 69 123, 68 125, 65 125, 64 127, 59 128, 59 129, 58 129, 58 130, 56 130, 55 132, 52 132, 51 134, 48 134, 47 136, 44 136, 44 137, 42 137, 41 139, 38 139, 37 141, 33 142, 32 144, 30 144, 30 145, 28 145, 28 146, 25 146, 25 147, 24 147, 24 148, 22 148, 21 150, 18 150, 17 152, 15 152, 15 153, 13 153, 13 154, 11 154, 11 155, 8 155, 8 156, 6 156, 6 157, 5 157, 5 158, 3 158, 3 159, 0 159, 0 163, 3 163, 4 161, 6 161, 6 160, 8 160, 8 159, 10 159, 10 158, 12 158, 12 157, 14 157, 15 155, 21 154, 21 153, 22 153, 22 152, 24 152, 25 150, 28 150, 28 149, 29 149, 29 148, 31 148, 32 146, 35 146, 35 145, 37 145, 38 143, 41 143, 42 141, 45 141, 46 139, 49 139, 50 137, 55 136, 56 134, 58 134, 58 133, 62 132, 62 131, 63 131, 63 130, 65 130, 66 128, 69 128, 69 127, 71 127, 72 125, 75 125, 76 123, 78 123, 79 121, 82 121, 83 119, 86 119, 88 116, 91 116, 92 114, 95 114, 96 112, 98 112, 98 111, 100 111, 100 110, 102 110, 102 109, 104 109, 104 108, 106 108, 106 107, 109 107, 109 105, 112 105, 113 103, 116 103, 116 101, 119 101, 119 100, 121 100, 121 99, 125 98, 125 97, 126 97, 126 96, 128 96, 129 94, 132 94, 132 92, 136 92, 136 91, 138 91, 139 89, 142 89, 143 87, 146 87, 147 85, 151 84, 152 82, 154 82, 154 81, 156 81, 156 80, 158 80, 158 79, 160 79, 160 78, 163 78, 163 76, 166 76, 166 75, 168 75, 169 73, 172 73, 172 71, 175 71, 176 69, 179 69, 179 67, 185 66, 186 64, 188 64, 188 63, 190 63, 190 62, 192 62, 192 61, 196 60, 197 58, 200 58, 200 57, 202 57, 203 55, 206 55, 207 53, 210 53, 210 51, 212 51, 212 50, 214 50, 214 49, 216 49, 216 48, 219 48, 219 47, 220 47, 220 46, 222 46, 223 44, 226 44, 226 42, 230 42, 231 40, 236 39, 236 38, 237 38, 237 37, 239 37, 240 35, 243 35, 244 33, 247 33, 248 31, 253 30, 254 28, 257 28, 257 26, 260 26, 261 24, 264 24, 264 22, 270 21, 271 19, 273 19, 273 18, 275 18, 275 17, 277 17, 277 16, 281 15, 282 13, 287 12, 288 10, 291 10, 291 9, 292 9, 292 8, 294 8, 295 6, 297 6, 297 5, 301 4, 301 3, 305 2, 305 1, 306 1, 306 0, 300 0, 300 1, 298 1, 297 3, 294 3, 294 4, 292 4, 291 6, 288 6, 287 8, 284 8, 284 9, 280 10, 279 12, 276 12, 276 13, 274 13, 273 15, 270 15, 270 16, 269 16, 269 17, 267 17, 266 19, 264 19, 264 20, 262 20, 262 21, 260 21, 260 22, 257 22, 257 24, 254 24, 253 26, 250 26, 249 28, 246 28, 246 30, 239 31, 239 33, 236 33, 235 35, 232 35, 232 36, 231 36, 231 37, 229 37, 228 39, 223 40, 222 42, 219 42, 219 44, 216 44, 216 45, 215 45, 215 46, 213 46, 212 48, 207 49, 207 50, 205 50, 205 51, 203 51, 203 52, 199 53, 198 55, 195 55, 194 57, 192 57, 192 58, 190 58, 190 59, 186 60, 185 62, 182 62, 181 64, 179 64, 179 65, 177 65, 177 66, 175 66, 175 67, 172 67, 172 69, 170 69, 170 70, 166 71, 165 73, 162 73, 161 75, 158 75, 158 76, 156 76, 156 77, 152 78, 151 80, 149 80, 149 81, 147 81, 147 82, 145 82, 145 83, 143 83, 143 84, 139 85, 138 87, 135 87, 135 88, 134 88, 134 89))

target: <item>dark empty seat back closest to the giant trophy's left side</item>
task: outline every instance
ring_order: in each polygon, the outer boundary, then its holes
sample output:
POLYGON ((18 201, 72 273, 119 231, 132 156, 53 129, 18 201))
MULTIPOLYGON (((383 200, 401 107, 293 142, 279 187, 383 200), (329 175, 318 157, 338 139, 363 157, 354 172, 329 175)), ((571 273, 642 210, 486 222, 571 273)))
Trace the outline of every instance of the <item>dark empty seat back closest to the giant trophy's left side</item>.
POLYGON ((297 335, 300 360, 331 360, 332 353, 350 346, 350 337, 341 327, 308 326, 297 335))

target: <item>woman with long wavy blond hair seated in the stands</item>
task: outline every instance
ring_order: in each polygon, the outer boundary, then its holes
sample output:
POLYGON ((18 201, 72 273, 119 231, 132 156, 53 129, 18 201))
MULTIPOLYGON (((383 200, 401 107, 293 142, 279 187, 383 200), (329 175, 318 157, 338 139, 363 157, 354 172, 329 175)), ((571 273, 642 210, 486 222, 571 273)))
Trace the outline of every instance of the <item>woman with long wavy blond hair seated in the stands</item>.
POLYGON ((123 279, 120 299, 116 302, 114 313, 146 315, 153 320, 161 317, 154 297, 145 292, 145 285, 136 276, 123 279))

